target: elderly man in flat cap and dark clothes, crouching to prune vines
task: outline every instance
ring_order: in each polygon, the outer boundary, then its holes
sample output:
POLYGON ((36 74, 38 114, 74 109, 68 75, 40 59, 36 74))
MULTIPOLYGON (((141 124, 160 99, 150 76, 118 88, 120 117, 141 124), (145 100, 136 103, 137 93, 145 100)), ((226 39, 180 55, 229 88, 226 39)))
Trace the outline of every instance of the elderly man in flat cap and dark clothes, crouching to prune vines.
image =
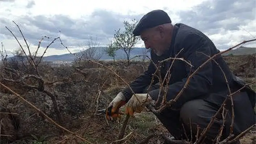
MULTIPOLYGON (((213 42, 199 30, 182 23, 172 25, 170 17, 163 10, 153 10, 145 14, 133 30, 133 34, 141 36, 145 47, 151 49, 151 58, 155 65, 158 65, 159 61, 175 56, 184 58, 192 64, 193 67, 184 61, 175 60, 173 62, 170 71, 171 77, 167 86, 167 101, 175 98, 184 87, 188 76, 208 60, 209 56, 219 53, 213 42)), ((172 61, 165 61, 161 64, 162 79, 165 78, 172 61)), ((124 104, 127 104, 127 114, 140 113, 143 109, 142 101, 146 101, 147 94, 149 94, 147 101, 157 101, 158 96, 162 99, 163 92, 159 93, 160 88, 157 84, 159 79, 153 77, 157 70, 153 62, 149 64, 148 70, 144 74, 130 84, 138 99, 133 95, 130 88, 125 88, 109 104, 108 109, 111 109, 111 112, 107 112, 107 118, 117 117, 116 112, 124 104), (149 87, 152 78, 154 80, 152 86, 149 87)), ((221 56, 217 56, 214 61, 209 61, 193 75, 188 86, 174 105, 165 108, 160 114, 156 115, 175 139, 186 139, 185 135, 191 133, 190 126, 192 126, 192 141, 195 141, 197 125, 200 127, 200 132, 202 132, 209 124, 213 115, 229 95, 229 88, 223 72, 231 93, 243 87, 244 82, 231 73, 221 56)), ((236 136, 255 123, 255 112, 253 110, 255 92, 249 87, 245 87, 233 96, 233 101, 235 115, 233 134, 236 136)), ((230 134, 232 119, 230 99, 227 101, 225 109, 228 111, 221 140, 227 138, 230 134)), ((219 114, 206 133, 206 143, 212 143, 216 140, 222 123, 222 114, 219 114)), ((190 136, 188 137, 190 138, 190 136)), ((235 141, 235 143, 239 143, 239 141, 235 141)))

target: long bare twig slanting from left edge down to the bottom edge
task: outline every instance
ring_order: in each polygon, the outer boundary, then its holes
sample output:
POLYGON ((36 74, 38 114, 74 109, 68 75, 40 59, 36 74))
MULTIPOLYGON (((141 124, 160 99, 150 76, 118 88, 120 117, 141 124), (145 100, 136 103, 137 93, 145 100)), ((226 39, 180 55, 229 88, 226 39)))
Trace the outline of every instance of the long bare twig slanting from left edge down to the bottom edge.
POLYGON ((75 134, 74 132, 69 131, 68 129, 66 129, 66 128, 60 126, 60 125, 57 124, 54 120, 52 120, 50 117, 48 117, 45 113, 43 113, 40 109, 38 109, 38 108, 35 107, 33 104, 31 104, 29 101, 27 101, 27 100, 24 99, 22 96, 20 96, 18 93, 14 92, 14 91, 11 90, 9 87, 5 86, 3 83, 0 82, 0 84, 1 84, 3 87, 5 87, 6 89, 8 89, 10 92, 12 92, 14 95, 16 95, 18 98, 20 98, 21 100, 23 100, 23 101, 25 101, 27 104, 29 104, 33 109, 37 110, 40 114, 42 114, 45 118, 47 118, 48 120, 50 120, 50 122, 52 122, 52 123, 53 123, 54 125, 56 125, 57 127, 59 127, 59 128, 65 130, 65 131, 67 131, 67 132, 73 134, 73 135, 76 136, 77 138, 79 138, 79 139, 81 139, 81 140, 83 140, 83 141, 85 141, 85 142, 87 142, 87 143, 89 143, 89 144, 93 144, 93 143, 91 143, 90 141, 88 141, 88 140, 82 138, 81 136, 75 134))

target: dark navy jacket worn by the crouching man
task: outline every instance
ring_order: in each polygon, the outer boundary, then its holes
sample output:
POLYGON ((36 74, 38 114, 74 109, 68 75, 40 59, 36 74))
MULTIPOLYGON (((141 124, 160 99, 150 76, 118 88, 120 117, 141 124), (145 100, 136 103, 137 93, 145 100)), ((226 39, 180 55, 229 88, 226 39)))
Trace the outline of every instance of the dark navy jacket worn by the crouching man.
MULTIPOLYGON (((180 90, 182 90, 188 76, 193 73, 197 67, 208 60, 208 56, 213 56, 219 52, 220 51, 215 47, 213 42, 201 31, 182 23, 174 25, 172 43, 168 52, 166 52, 163 56, 158 57, 153 53, 153 51, 151 51, 151 58, 154 63, 158 65, 158 61, 165 60, 169 57, 175 57, 175 55, 179 53, 177 57, 184 58, 185 60, 191 62, 193 67, 180 60, 174 61, 171 68, 171 78, 168 83, 167 100, 174 99, 180 90), (181 51, 182 48, 183 50, 181 51)), ((178 101, 175 102, 173 108, 179 109, 186 101, 192 99, 204 99, 213 105, 220 106, 223 100, 225 100, 226 96, 229 94, 222 70, 226 75, 227 82, 229 83, 232 92, 238 90, 244 84, 242 80, 238 80, 237 77, 232 74, 231 70, 221 56, 217 56, 214 58, 214 60, 218 64, 216 64, 214 61, 209 61, 189 80, 188 86, 185 88, 178 101), (219 66, 222 70, 219 68, 219 66)), ((162 79, 164 79, 166 71, 169 69, 171 62, 172 60, 166 61, 161 65, 162 79)), ((148 70, 130 84, 130 87, 135 93, 143 93, 144 89, 151 83, 152 75, 154 74, 155 70, 156 67, 151 62, 148 70)), ((158 78, 154 78, 153 84, 158 82, 158 78)), ((250 112, 248 118, 252 118, 251 113, 253 112, 253 107, 255 106, 255 92, 249 87, 244 88, 244 90, 248 90, 247 92, 249 94, 249 100, 251 101, 249 104, 251 104, 252 107, 250 109, 242 109, 237 113, 244 113, 243 110, 246 110, 247 112, 250 112)), ((127 101, 132 96, 132 92, 129 90, 129 88, 126 88, 123 93, 127 98, 127 101)), ((149 95, 152 97, 157 97, 158 94, 159 89, 149 92, 149 95)), ((247 120, 247 122, 248 121, 251 123, 251 119, 247 120)), ((246 120, 243 122, 246 122, 246 120)), ((244 129, 244 127, 242 129, 244 129)))

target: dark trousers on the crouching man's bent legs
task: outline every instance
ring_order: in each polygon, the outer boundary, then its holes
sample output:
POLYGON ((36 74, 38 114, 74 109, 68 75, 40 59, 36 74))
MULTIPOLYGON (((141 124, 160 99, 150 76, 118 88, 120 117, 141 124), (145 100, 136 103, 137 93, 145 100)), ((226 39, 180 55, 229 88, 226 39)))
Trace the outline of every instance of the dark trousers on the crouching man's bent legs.
MULTIPOLYGON (((151 90, 159 88, 154 85, 151 90)), ((147 89, 147 88, 146 88, 147 89)), ((146 92, 146 89, 144 92, 146 92)), ((240 93, 236 95, 242 95, 240 93)), ((157 100, 156 97, 152 97, 157 100)), ((199 136, 204 128, 210 123, 214 114, 217 113, 219 107, 211 104, 208 101, 202 99, 195 99, 186 102, 181 109, 172 110, 171 108, 164 109, 160 114, 157 114, 157 118, 161 121, 163 126, 167 128, 175 139, 189 139, 192 141, 196 140, 197 126, 199 126, 199 136), (191 135, 192 134, 192 135, 191 135), (192 138, 192 139, 191 139, 192 138)), ((227 114, 226 121, 230 123, 231 115, 227 114)), ((219 130, 222 126, 223 119, 222 115, 217 115, 213 122, 213 125, 206 133, 205 143, 211 144, 219 134, 219 130)), ((229 135, 230 125, 225 123, 225 127, 222 132, 221 140, 225 139, 229 135)), ((236 143, 239 143, 236 142, 236 143)))

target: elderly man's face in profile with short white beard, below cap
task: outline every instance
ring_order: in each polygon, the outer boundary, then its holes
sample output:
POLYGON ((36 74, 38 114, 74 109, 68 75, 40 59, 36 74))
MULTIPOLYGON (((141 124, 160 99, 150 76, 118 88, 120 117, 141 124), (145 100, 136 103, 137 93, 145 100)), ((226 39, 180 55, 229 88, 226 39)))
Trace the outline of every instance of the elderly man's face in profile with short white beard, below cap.
POLYGON ((161 56, 166 51, 166 47, 163 44, 163 35, 156 28, 145 30, 140 36, 146 49, 153 49, 157 56, 161 56))

